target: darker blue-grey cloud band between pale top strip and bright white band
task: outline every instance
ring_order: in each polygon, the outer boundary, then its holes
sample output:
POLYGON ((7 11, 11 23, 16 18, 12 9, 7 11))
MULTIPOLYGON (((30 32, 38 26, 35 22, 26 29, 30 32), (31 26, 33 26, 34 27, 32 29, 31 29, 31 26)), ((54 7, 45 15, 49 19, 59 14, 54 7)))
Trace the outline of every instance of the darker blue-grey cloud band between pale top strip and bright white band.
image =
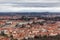
POLYGON ((60 3, 3 3, 1 5, 12 7, 60 7, 60 3))

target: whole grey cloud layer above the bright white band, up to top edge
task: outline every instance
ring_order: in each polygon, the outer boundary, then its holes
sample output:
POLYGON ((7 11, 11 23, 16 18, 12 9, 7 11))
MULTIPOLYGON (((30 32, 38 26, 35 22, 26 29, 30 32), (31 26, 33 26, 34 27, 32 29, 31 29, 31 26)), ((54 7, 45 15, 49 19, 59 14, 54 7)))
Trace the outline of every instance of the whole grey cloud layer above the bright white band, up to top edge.
POLYGON ((0 4, 13 7, 60 7, 60 0, 0 0, 0 4))

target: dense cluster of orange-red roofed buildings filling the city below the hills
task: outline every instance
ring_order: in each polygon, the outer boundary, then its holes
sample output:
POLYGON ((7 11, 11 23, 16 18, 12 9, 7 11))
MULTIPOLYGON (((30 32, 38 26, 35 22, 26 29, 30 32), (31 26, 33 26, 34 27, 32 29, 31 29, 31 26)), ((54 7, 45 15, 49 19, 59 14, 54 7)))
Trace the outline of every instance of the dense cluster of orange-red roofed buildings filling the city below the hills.
POLYGON ((60 34, 60 21, 0 20, 0 40, 22 40, 35 36, 56 36, 60 34))

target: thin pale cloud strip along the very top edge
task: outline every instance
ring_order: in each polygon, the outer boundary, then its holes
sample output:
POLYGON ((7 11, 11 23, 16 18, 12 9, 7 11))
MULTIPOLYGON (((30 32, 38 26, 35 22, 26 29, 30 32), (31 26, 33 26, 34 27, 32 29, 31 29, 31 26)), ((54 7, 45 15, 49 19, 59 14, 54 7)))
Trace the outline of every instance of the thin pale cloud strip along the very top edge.
POLYGON ((0 0, 0 2, 60 2, 60 0, 0 0))

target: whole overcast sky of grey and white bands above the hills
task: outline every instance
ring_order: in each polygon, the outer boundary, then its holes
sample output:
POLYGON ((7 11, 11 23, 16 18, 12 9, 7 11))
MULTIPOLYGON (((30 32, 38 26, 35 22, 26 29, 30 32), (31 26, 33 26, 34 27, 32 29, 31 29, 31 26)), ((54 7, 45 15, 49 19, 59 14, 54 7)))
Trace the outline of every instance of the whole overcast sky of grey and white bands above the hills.
POLYGON ((60 0, 0 0, 0 12, 60 12, 60 0))

